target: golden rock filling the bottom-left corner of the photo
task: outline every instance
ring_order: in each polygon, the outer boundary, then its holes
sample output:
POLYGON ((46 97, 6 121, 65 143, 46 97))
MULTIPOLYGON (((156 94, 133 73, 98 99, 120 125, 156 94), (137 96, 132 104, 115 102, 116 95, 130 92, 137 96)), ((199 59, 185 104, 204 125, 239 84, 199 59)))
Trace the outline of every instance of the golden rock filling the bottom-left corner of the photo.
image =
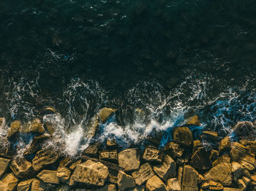
POLYGON ((12 191, 18 184, 18 179, 14 174, 5 174, 0 180, 0 190, 1 191, 12 191))

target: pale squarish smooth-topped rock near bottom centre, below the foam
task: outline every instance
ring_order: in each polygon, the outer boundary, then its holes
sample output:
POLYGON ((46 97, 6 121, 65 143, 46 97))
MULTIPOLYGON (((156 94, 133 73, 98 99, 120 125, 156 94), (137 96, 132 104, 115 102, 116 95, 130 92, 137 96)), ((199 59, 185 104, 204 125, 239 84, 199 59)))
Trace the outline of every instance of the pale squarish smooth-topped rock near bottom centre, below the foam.
POLYGON ((118 153, 118 164, 124 171, 137 170, 140 167, 140 150, 125 149, 118 153))

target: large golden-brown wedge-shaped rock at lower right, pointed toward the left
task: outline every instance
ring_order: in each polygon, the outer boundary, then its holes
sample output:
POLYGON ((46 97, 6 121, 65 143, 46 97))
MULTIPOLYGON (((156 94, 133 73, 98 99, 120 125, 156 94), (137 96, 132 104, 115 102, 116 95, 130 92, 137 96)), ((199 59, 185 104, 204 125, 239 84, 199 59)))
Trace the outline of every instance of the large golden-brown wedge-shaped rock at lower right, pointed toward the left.
POLYGON ((207 180, 219 182, 223 186, 230 186, 232 184, 232 167, 230 163, 219 163, 211 168, 204 177, 207 180))

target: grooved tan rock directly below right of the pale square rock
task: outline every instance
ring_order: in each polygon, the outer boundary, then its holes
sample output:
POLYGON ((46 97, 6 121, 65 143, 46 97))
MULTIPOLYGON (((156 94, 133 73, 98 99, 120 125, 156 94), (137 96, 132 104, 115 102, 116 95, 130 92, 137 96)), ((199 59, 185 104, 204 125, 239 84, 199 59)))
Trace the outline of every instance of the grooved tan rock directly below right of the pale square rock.
POLYGON ((152 176, 154 176, 154 171, 148 163, 140 165, 138 171, 132 172, 132 177, 135 179, 135 183, 139 186, 144 184, 152 176))

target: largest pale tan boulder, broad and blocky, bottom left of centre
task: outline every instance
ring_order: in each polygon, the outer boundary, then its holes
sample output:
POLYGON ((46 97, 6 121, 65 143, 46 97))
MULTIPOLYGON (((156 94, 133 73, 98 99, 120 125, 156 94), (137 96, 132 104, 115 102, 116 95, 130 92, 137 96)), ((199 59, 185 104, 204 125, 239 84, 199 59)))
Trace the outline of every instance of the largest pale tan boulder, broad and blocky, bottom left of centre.
POLYGON ((95 186, 103 186, 108 177, 108 167, 102 163, 95 163, 86 160, 85 163, 78 164, 72 174, 75 182, 92 184, 95 186))

